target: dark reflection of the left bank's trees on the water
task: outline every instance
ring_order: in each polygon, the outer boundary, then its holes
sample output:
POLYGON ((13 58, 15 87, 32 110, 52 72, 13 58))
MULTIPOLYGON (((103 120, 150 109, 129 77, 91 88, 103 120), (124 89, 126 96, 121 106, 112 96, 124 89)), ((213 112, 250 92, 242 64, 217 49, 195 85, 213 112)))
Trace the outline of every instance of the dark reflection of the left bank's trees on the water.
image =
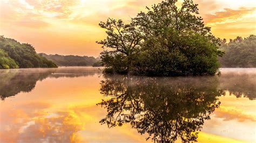
POLYGON ((42 81, 47 77, 81 77, 99 73, 98 68, 88 67, 0 70, 0 96, 4 100, 6 97, 15 96, 19 92, 30 92, 35 88, 37 81, 42 81))

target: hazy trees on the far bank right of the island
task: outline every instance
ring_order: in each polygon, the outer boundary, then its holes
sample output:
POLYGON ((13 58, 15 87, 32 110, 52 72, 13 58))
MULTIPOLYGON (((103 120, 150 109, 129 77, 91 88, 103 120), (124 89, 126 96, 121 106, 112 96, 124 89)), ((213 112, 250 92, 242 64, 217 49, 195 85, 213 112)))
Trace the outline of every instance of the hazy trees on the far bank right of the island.
POLYGON ((222 40, 221 49, 225 55, 220 58, 222 67, 256 67, 256 35, 250 35, 248 38, 237 37, 226 43, 222 40))

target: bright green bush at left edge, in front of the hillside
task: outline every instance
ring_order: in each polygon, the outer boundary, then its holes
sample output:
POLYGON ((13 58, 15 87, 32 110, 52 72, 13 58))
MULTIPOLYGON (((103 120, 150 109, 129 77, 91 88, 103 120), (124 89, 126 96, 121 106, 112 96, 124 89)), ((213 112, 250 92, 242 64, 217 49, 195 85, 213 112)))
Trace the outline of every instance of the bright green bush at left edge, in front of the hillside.
POLYGON ((18 68, 16 62, 0 49, 0 69, 18 68))

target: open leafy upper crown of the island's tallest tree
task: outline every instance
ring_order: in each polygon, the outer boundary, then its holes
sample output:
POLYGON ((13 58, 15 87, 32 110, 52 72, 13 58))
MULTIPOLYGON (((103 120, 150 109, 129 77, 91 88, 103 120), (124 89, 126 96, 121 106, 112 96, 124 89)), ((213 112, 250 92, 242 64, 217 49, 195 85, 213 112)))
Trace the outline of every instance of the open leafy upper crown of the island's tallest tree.
POLYGON ((211 28, 204 25, 203 18, 198 17, 198 4, 185 0, 179 9, 175 4, 177 0, 166 0, 154 4, 148 11, 140 12, 133 22, 139 26, 140 31, 152 37, 163 33, 166 28, 173 28, 178 34, 187 34, 193 31, 207 36, 213 43, 218 40, 210 33, 211 28))

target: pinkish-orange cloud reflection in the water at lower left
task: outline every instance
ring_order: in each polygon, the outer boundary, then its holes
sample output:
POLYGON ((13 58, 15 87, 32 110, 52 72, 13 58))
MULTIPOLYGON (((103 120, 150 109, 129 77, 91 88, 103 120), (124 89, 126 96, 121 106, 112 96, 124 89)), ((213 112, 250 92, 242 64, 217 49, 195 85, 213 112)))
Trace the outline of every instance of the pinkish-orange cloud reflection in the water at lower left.
POLYGON ((1 109, 0 142, 79 142, 85 123, 73 110, 48 112, 44 103, 1 109), (27 110, 33 106, 32 110, 27 110))

